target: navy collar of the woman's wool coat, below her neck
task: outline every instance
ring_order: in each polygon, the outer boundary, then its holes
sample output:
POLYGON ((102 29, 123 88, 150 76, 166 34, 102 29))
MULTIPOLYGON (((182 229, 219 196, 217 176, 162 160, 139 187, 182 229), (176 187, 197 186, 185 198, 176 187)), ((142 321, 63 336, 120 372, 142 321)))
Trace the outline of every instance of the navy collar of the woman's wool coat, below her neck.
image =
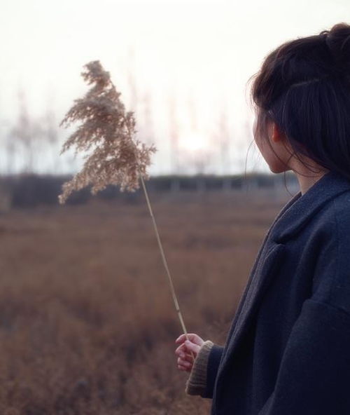
POLYGON ((303 195, 297 193, 283 207, 271 226, 271 238, 283 243, 295 236, 329 200, 345 191, 350 191, 350 181, 328 172, 303 195))

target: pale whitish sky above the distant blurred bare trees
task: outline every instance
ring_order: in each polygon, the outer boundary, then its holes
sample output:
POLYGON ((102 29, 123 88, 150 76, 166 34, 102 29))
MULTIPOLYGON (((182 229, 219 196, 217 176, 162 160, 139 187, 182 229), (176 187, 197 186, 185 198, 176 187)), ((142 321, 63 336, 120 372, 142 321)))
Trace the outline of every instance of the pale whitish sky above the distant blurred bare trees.
MULTIPOLYGON (((174 122, 181 165, 203 154, 205 171, 237 172, 252 140, 248 78, 279 44, 338 22, 350 22, 349 0, 0 0, 0 131, 18 116, 20 88, 31 116, 51 109, 58 123, 87 91, 83 65, 100 60, 143 137, 158 147, 151 172, 174 169, 174 122)), ((251 166, 266 169, 256 156, 250 151, 251 166)))

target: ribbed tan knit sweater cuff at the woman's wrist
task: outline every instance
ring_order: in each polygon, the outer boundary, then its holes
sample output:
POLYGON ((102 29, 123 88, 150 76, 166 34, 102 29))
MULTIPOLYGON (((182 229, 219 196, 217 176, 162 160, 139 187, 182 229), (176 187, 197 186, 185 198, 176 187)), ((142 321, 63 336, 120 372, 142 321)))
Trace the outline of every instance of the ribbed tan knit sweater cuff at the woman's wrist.
POLYGON ((213 346, 214 343, 210 340, 204 341, 202 344, 186 383, 186 393, 188 395, 202 395, 206 390, 208 360, 213 346))

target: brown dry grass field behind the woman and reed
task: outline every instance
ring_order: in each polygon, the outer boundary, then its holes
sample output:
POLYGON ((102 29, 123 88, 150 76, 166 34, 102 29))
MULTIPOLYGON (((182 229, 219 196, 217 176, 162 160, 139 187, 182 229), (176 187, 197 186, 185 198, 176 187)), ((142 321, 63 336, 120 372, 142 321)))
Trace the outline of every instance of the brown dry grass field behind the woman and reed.
MULTIPOLYGON (((190 332, 225 341, 290 196, 151 194, 190 332)), ((207 414, 176 369, 181 334, 144 198, 0 216, 0 414, 207 414)))

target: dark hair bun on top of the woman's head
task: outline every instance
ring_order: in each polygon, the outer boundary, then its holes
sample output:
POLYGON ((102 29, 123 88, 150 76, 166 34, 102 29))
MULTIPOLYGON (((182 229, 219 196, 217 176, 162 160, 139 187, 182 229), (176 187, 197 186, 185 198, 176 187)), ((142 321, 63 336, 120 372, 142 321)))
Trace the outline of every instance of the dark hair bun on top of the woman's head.
POLYGON ((321 32, 340 72, 350 76, 350 25, 338 23, 321 32))

